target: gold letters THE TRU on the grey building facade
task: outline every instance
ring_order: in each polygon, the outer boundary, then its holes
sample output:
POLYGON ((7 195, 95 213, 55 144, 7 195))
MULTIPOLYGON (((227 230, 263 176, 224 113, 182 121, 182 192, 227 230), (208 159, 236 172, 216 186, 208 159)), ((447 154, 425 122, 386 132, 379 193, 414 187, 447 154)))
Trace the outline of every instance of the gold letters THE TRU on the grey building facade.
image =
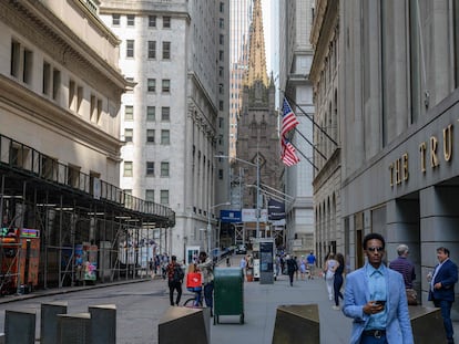
MULTIPOLYGON (((459 121, 459 119, 458 119, 459 121)), ((443 129, 443 160, 446 163, 451 160, 452 155, 452 124, 448 125, 443 129)), ((440 166, 440 156, 439 153, 439 142, 437 136, 430 136, 429 143, 422 142, 419 145, 419 159, 420 159, 420 171, 422 174, 427 170, 427 161, 429 161, 429 167, 431 169, 440 166), (428 145, 429 144, 429 145, 428 145)), ((409 178, 409 164, 408 164, 408 153, 405 153, 389 165, 389 175, 390 175, 390 187, 396 185, 401 185, 402 183, 408 181, 409 178)))

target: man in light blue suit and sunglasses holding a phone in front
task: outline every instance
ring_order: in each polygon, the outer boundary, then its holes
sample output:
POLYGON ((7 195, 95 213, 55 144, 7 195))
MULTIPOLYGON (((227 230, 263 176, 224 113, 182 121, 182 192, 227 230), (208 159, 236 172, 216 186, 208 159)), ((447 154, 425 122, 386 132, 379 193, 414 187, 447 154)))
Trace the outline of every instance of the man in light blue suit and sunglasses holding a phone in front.
POLYGON ((404 278, 382 263, 382 236, 367 234, 363 247, 367 263, 346 278, 343 313, 354 319, 349 343, 412 344, 404 278))

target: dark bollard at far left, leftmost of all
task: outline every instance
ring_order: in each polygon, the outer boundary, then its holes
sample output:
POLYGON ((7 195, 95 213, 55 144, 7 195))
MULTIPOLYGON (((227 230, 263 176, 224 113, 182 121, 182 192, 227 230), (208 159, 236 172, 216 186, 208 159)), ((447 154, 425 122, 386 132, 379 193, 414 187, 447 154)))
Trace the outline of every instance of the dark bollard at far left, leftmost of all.
POLYGON ((35 343, 34 311, 10 311, 4 313, 4 343, 34 344, 35 343))

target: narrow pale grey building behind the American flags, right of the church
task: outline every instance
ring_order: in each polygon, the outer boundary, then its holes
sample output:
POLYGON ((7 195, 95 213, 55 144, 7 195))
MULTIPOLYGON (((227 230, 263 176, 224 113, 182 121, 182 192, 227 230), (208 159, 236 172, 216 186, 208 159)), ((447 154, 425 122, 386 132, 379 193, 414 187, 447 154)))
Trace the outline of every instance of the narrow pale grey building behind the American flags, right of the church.
POLYGON ((316 169, 313 147, 313 86, 309 71, 313 46, 308 38, 313 22, 314 1, 280 1, 279 3, 279 103, 284 98, 299 122, 289 138, 300 161, 285 168, 286 246, 297 254, 315 250, 313 178, 316 169))

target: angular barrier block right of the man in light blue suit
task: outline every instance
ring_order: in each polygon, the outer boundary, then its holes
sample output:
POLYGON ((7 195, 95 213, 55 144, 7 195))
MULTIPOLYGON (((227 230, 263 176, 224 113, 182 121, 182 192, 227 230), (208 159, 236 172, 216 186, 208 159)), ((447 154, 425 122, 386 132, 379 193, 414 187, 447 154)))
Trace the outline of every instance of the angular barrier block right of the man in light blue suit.
POLYGON ((440 309, 420 305, 409 306, 408 309, 416 344, 446 343, 440 309))

